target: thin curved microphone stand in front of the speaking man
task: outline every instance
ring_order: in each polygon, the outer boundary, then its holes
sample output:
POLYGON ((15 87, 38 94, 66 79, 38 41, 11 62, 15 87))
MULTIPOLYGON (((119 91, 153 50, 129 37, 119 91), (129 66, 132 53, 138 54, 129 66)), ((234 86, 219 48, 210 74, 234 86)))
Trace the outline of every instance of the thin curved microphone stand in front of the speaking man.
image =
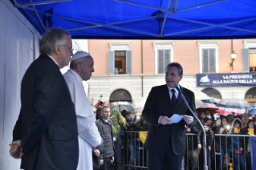
POLYGON ((194 118, 197 119, 197 122, 200 124, 201 129, 202 129, 202 131, 204 132, 204 146, 203 146, 203 147, 204 147, 204 153, 205 153, 205 156, 204 156, 204 159, 205 159, 204 170, 208 170, 208 167, 207 167, 207 155, 206 155, 207 153, 206 153, 206 134, 205 134, 205 128, 204 128, 204 126, 202 125, 200 119, 197 118, 197 115, 196 115, 196 114, 192 111, 192 109, 189 107, 189 103, 188 103, 187 100, 185 99, 185 96, 182 94, 181 89, 178 87, 178 85, 177 85, 177 84, 174 84, 174 87, 177 89, 177 91, 180 92, 182 99, 184 100, 185 104, 186 104, 187 107, 189 108, 189 111, 191 111, 191 113, 193 114, 194 118))

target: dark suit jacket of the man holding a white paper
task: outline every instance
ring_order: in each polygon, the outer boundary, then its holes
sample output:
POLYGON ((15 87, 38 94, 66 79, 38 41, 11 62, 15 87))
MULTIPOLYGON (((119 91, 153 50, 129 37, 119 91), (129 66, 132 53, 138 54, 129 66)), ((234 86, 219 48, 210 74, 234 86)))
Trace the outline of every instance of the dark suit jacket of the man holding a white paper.
MULTIPOLYGON (((193 92, 184 87, 181 87, 180 89, 183 95, 185 95, 185 99, 189 103, 189 106, 195 111, 195 97, 193 92)), ((171 117, 173 114, 192 115, 181 98, 180 93, 175 106, 172 106, 169 89, 166 84, 152 87, 145 103, 144 110, 142 111, 143 119, 151 124, 148 129, 148 136, 145 143, 145 148, 149 151, 163 152, 167 144, 171 143, 175 155, 185 155, 185 121, 181 119, 179 123, 158 125, 158 119, 161 115, 171 117)))

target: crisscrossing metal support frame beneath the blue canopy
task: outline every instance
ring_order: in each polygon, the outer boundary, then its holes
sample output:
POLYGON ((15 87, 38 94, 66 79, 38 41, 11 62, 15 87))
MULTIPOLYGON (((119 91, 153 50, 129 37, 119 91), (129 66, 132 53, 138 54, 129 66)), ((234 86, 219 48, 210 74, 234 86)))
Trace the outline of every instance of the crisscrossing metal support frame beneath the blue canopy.
MULTIPOLYGON (((147 34, 147 35, 154 36, 154 37, 167 37, 167 36, 171 36, 171 35, 174 35, 174 34, 184 34, 184 33, 193 32, 193 31, 197 31, 197 30, 207 30, 207 29, 211 29, 213 27, 221 27, 221 28, 225 28, 225 29, 229 29, 229 30, 240 30, 240 31, 245 31, 245 32, 250 32, 250 33, 256 33, 256 31, 254 31, 254 30, 246 30, 246 29, 240 29, 240 28, 235 28, 235 27, 232 27, 232 26, 228 26, 228 25, 231 25, 231 24, 234 24, 234 23, 256 20, 256 18, 243 19, 243 20, 240 20, 240 21, 237 21, 237 22, 229 22, 229 23, 226 23, 226 24, 214 25, 214 24, 210 24, 210 23, 207 23, 207 22, 198 22, 198 21, 185 19, 185 18, 175 18, 175 17, 167 16, 168 14, 177 13, 177 12, 181 12, 181 11, 184 11, 184 10, 191 10, 191 9, 198 8, 198 7, 201 7, 201 6, 208 6, 208 5, 212 5, 214 3, 218 3, 218 2, 226 2, 228 0, 215 0, 213 2, 202 3, 202 4, 199 4, 199 5, 196 5, 196 6, 189 6, 189 7, 182 8, 182 9, 177 9, 178 0, 176 2, 176 5, 173 7, 173 9, 169 9, 169 5, 168 5, 168 8, 163 8, 163 7, 160 7, 160 6, 151 6, 151 5, 148 5, 148 4, 143 4, 143 3, 140 3, 140 2, 132 2, 132 1, 129 1, 129 0, 115 0, 115 1, 118 1, 118 2, 125 2, 125 3, 129 3, 129 4, 132 4, 132 5, 136 5, 136 6, 144 6, 144 7, 153 8, 153 9, 156 9, 156 10, 165 10, 166 13, 162 14, 163 16, 165 15, 165 20, 164 20, 163 26, 161 28, 161 34, 150 34, 150 33, 142 32, 140 30, 131 30, 131 29, 127 29, 127 28, 122 28, 120 26, 114 26, 114 25, 117 25, 117 24, 123 24, 123 23, 137 22, 137 21, 152 19, 152 18, 156 18, 156 16, 152 16, 152 17, 148 17, 148 18, 133 19, 133 20, 123 21, 123 22, 112 22, 112 23, 104 24, 104 23, 99 23, 99 22, 90 22, 90 21, 85 21, 85 20, 80 20, 80 19, 75 19, 75 18, 62 17, 62 16, 55 15, 55 14, 45 14, 42 11, 35 9, 36 5, 43 5, 43 4, 46 4, 46 3, 54 3, 54 2, 66 2, 66 1, 71 1, 71 0, 53 0, 53 1, 48 0, 48 1, 43 1, 43 2, 32 2, 30 0, 30 3, 24 3, 24 4, 20 4, 20 3, 16 2, 16 0, 14 0, 14 4, 15 4, 16 7, 23 8, 23 9, 26 9, 26 10, 35 11, 35 14, 39 18, 39 22, 43 26, 44 30, 47 30, 47 29, 46 29, 46 26, 44 26, 41 18, 39 17, 39 14, 43 14, 43 15, 47 15, 47 16, 49 15, 49 16, 52 16, 52 17, 55 17, 55 18, 63 18, 63 19, 67 19, 67 20, 71 20, 71 21, 75 21, 75 22, 85 22, 85 23, 88 23, 88 24, 91 24, 91 25, 95 25, 95 26, 84 26, 84 27, 78 27, 78 28, 73 28, 73 29, 66 29, 67 31, 86 30, 86 29, 105 26, 105 27, 110 27, 110 28, 117 29, 117 30, 126 30, 126 31, 129 31, 129 32, 138 33, 138 34, 147 34), (27 6, 32 6, 32 8, 27 7, 27 6), (184 22, 193 22, 193 23, 198 23, 198 24, 202 24, 202 25, 206 25, 206 26, 201 27, 201 28, 197 28, 197 29, 193 29, 193 30, 184 30, 184 31, 180 31, 180 32, 170 33, 170 34, 163 34, 163 31, 164 31, 164 28, 165 28, 166 18, 177 19, 177 20, 184 21, 184 22)), ((169 4, 170 4, 170 1, 171 0, 169 0, 169 4)), ((173 4, 174 4, 174 0, 173 0, 173 4)))

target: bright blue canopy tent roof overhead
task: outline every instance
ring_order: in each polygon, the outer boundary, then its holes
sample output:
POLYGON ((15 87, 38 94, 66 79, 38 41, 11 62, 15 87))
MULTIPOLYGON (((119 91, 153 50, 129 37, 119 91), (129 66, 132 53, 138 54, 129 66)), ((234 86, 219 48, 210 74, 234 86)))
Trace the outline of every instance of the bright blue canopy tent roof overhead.
POLYGON ((256 38, 255 0, 10 0, 42 34, 73 38, 256 38))

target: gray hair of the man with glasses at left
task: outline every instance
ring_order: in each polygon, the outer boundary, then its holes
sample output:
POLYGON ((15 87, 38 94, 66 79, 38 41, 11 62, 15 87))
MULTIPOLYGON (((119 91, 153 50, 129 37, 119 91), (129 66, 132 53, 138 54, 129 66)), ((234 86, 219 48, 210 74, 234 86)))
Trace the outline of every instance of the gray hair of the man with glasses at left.
POLYGON ((51 55, 55 52, 55 46, 65 45, 67 40, 64 35, 71 37, 71 34, 62 28, 52 27, 47 30, 40 40, 40 54, 51 55))

